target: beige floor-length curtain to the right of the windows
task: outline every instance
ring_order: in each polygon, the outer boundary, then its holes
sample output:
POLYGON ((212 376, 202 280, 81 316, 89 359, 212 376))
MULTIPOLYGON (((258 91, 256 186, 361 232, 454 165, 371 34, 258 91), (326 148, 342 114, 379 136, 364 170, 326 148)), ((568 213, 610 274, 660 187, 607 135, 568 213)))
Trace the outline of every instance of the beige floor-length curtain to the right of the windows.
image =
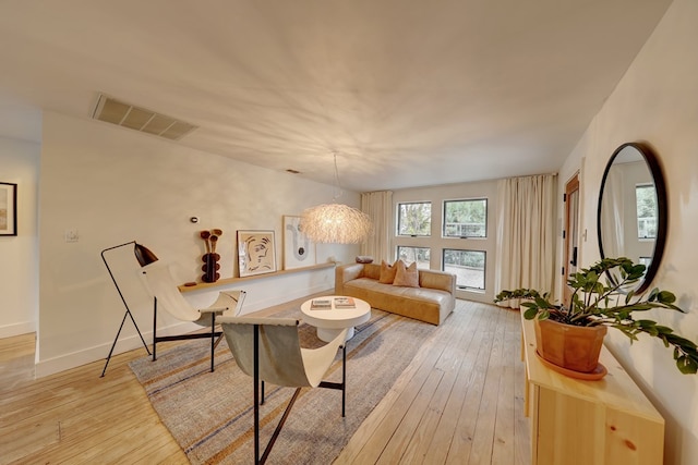
POLYGON ((554 293, 556 197, 556 174, 497 183, 495 294, 518 287, 554 293))

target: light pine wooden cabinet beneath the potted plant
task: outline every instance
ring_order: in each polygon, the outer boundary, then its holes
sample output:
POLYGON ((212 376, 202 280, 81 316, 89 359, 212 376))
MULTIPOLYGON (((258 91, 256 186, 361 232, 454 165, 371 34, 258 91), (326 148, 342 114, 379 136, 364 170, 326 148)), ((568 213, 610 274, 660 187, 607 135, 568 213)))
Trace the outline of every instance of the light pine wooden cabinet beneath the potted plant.
POLYGON ((521 328, 532 465, 662 463, 664 418, 606 347, 603 379, 571 379, 538 359, 533 322, 522 314, 521 328))

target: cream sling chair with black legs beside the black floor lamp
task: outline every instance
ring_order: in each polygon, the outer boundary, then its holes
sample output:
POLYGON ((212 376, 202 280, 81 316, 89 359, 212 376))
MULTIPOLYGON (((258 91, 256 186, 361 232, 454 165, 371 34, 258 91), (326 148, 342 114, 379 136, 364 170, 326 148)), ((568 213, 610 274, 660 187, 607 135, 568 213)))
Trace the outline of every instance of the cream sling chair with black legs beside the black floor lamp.
POLYGON ((218 298, 207 308, 194 308, 179 291, 170 267, 163 265, 149 265, 143 268, 143 274, 151 294, 153 304, 153 360, 157 359, 156 346, 163 341, 179 341, 185 339, 210 338, 210 370, 214 370, 214 351, 222 338, 221 331, 216 331, 216 316, 237 316, 242 309, 244 291, 226 291, 218 294, 218 298), (209 327, 210 332, 188 333, 180 335, 157 335, 157 310, 165 309, 178 320, 192 321, 202 327, 209 327), (216 339, 218 338, 218 339, 216 339))

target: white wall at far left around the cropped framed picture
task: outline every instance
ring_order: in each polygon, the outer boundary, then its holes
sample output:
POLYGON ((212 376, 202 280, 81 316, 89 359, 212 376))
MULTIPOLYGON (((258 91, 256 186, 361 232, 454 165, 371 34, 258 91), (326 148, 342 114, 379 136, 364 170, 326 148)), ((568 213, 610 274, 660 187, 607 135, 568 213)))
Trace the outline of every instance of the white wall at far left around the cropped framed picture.
POLYGON ((0 236, 0 338, 36 330, 40 145, 0 137, 0 182, 17 184, 17 235, 0 236))

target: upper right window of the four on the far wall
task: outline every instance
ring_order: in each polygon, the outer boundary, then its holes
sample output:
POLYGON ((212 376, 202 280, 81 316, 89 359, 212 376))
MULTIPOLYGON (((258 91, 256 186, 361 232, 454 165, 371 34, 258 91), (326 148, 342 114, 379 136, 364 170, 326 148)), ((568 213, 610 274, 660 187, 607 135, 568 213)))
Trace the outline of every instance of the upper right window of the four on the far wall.
POLYGON ((444 237, 486 237, 488 199, 444 201, 444 237))

